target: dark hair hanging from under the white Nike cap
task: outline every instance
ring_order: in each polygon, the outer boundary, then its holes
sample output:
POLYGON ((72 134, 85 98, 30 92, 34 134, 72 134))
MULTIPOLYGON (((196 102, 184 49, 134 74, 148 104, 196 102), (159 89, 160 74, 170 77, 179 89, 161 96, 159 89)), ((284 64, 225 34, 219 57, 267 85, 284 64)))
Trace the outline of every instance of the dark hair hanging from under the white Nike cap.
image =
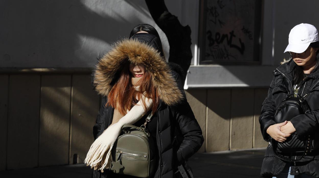
MULTIPOLYGON (((310 47, 313 48, 319 48, 319 41, 315 41, 310 43, 310 47)), ((318 68, 319 68, 319 49, 316 51, 316 65, 315 68, 310 72, 310 74, 314 73, 318 68)), ((299 83, 302 79, 304 78, 303 76, 303 70, 301 66, 295 66, 293 68, 293 83, 297 84, 299 83)))

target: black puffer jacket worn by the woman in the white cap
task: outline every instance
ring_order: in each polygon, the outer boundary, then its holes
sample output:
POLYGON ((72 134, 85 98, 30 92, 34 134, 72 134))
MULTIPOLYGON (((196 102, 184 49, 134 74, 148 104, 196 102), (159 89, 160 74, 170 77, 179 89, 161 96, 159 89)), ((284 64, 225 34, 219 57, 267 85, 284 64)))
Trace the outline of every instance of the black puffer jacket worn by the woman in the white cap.
MULTIPOLYGON (((269 87, 268 96, 263 102, 261 116, 259 117, 261 132, 263 138, 271 143, 271 137, 267 134, 266 130, 270 125, 276 124, 273 120, 276 108, 282 100, 293 94, 293 68, 296 64, 293 60, 279 66, 274 71, 274 78, 269 87)), ((298 94, 304 96, 312 85, 319 80, 319 70, 316 70, 313 74, 310 74, 300 86, 298 94)), ((319 132, 319 84, 317 84, 306 96, 306 100, 312 111, 299 115, 291 119, 293 126, 296 128, 296 132, 299 136, 313 134, 319 132)), ((319 138, 316 138, 319 139, 319 138)), ((319 141, 319 140, 318 140, 319 141)), ((319 153, 318 151, 308 154, 300 162, 296 163, 296 166, 292 166, 292 174, 304 173, 313 177, 319 177, 319 153)), ((263 160, 263 166, 261 169, 261 176, 272 177, 282 172, 286 162, 277 158, 273 152, 272 144, 269 144, 265 158, 263 160)))

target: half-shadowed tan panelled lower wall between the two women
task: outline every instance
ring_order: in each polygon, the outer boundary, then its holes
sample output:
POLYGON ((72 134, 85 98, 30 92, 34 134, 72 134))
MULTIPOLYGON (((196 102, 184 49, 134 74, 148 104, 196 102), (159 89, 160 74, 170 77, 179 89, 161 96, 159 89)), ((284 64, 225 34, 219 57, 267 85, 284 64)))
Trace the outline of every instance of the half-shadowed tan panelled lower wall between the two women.
POLYGON ((203 131, 205 152, 267 146, 258 122, 267 91, 250 88, 187 90, 187 99, 203 131))

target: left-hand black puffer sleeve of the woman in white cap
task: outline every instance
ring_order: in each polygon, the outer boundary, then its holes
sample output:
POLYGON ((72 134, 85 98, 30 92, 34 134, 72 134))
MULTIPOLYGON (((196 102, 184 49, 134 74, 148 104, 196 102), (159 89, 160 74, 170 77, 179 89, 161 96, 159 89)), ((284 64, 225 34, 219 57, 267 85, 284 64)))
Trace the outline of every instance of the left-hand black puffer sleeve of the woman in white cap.
POLYGON ((272 95, 272 90, 275 84, 274 81, 275 81, 275 77, 270 84, 268 94, 265 101, 263 102, 261 115, 259 117, 260 129, 263 135, 263 139, 268 142, 270 141, 270 135, 266 131, 269 126, 276 124, 276 122, 274 121, 276 104, 275 104, 274 96, 272 95))

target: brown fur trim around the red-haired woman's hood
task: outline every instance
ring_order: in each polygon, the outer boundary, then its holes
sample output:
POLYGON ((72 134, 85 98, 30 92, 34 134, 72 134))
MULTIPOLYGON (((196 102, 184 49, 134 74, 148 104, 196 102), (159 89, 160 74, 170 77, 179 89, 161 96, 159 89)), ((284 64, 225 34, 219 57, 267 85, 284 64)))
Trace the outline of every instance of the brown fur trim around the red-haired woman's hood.
POLYGON ((108 96, 117 80, 117 72, 127 59, 134 64, 143 64, 145 70, 150 71, 153 85, 164 103, 172 106, 182 100, 182 92, 178 89, 167 62, 157 50, 137 39, 122 39, 116 42, 113 48, 99 59, 93 73, 93 85, 100 95, 108 96))

